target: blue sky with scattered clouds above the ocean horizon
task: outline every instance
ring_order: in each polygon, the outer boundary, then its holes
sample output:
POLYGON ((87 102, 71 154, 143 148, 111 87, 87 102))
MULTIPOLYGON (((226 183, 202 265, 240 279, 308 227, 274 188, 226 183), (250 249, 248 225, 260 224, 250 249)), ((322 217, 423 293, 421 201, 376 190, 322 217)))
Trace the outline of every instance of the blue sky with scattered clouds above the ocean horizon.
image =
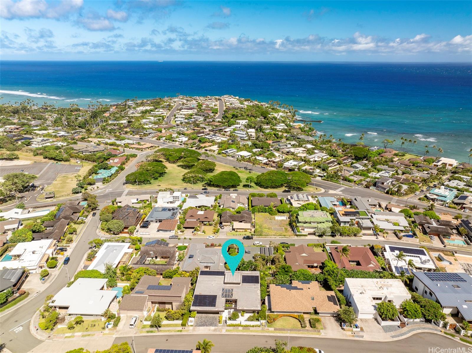
POLYGON ((1 0, 8 60, 472 61, 472 1, 1 0))

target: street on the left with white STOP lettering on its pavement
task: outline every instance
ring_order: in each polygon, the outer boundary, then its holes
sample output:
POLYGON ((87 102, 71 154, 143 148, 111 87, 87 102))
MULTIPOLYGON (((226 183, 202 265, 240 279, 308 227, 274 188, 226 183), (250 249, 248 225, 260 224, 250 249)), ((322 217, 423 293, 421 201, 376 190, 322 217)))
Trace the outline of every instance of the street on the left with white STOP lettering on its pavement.
MULTIPOLYGON (((11 352, 26 353, 42 343, 42 341, 38 340, 30 333, 30 319, 33 317, 36 310, 44 304, 46 296, 56 294, 60 289, 66 286, 69 281, 67 271, 71 278, 74 276, 85 252, 89 248, 88 242, 97 236, 98 217, 97 214, 97 216, 89 222, 79 242, 72 251, 72 254, 69 255, 70 262, 62 267, 58 277, 51 285, 26 304, 0 316, 1 341, 6 343, 7 348, 11 352)), ((29 300, 29 298, 26 300, 29 300)))

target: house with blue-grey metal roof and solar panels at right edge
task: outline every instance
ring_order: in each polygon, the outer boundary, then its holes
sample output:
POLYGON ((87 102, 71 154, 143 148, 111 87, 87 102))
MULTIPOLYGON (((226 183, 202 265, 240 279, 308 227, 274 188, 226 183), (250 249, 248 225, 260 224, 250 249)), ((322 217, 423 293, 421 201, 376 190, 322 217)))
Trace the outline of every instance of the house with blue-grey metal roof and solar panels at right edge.
MULTIPOLYGON (((413 271, 412 288, 423 298, 443 307, 443 312, 472 323, 472 277, 464 272, 413 271)), ((461 322, 461 320, 457 320, 461 322)))

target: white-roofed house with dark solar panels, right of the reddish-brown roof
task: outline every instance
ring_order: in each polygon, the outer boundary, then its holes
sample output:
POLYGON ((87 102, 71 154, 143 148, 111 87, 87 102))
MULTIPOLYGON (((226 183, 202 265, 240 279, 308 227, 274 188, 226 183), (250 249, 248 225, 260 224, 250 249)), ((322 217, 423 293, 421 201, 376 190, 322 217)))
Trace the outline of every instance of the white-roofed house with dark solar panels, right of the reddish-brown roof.
POLYGON ((434 271, 436 264, 424 249, 408 246, 385 245, 384 251, 385 264, 396 275, 400 275, 401 271, 405 274, 411 274, 412 269, 408 268, 408 260, 413 260, 416 271, 434 271), (396 256, 403 252, 405 258, 399 260, 396 256))

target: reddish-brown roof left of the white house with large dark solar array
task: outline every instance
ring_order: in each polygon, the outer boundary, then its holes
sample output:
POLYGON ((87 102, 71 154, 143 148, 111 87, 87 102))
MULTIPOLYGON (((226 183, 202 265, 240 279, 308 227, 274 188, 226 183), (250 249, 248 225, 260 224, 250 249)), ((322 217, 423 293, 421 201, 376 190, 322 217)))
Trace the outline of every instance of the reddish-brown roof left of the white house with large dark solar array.
POLYGON ((364 271, 375 271, 380 270, 379 263, 375 260, 374 255, 368 247, 364 246, 349 246, 349 257, 341 259, 340 254, 337 250, 341 250, 342 246, 336 246, 331 248, 331 256, 333 261, 339 268, 348 270, 364 270, 364 271), (356 261, 357 264, 351 262, 356 261))

